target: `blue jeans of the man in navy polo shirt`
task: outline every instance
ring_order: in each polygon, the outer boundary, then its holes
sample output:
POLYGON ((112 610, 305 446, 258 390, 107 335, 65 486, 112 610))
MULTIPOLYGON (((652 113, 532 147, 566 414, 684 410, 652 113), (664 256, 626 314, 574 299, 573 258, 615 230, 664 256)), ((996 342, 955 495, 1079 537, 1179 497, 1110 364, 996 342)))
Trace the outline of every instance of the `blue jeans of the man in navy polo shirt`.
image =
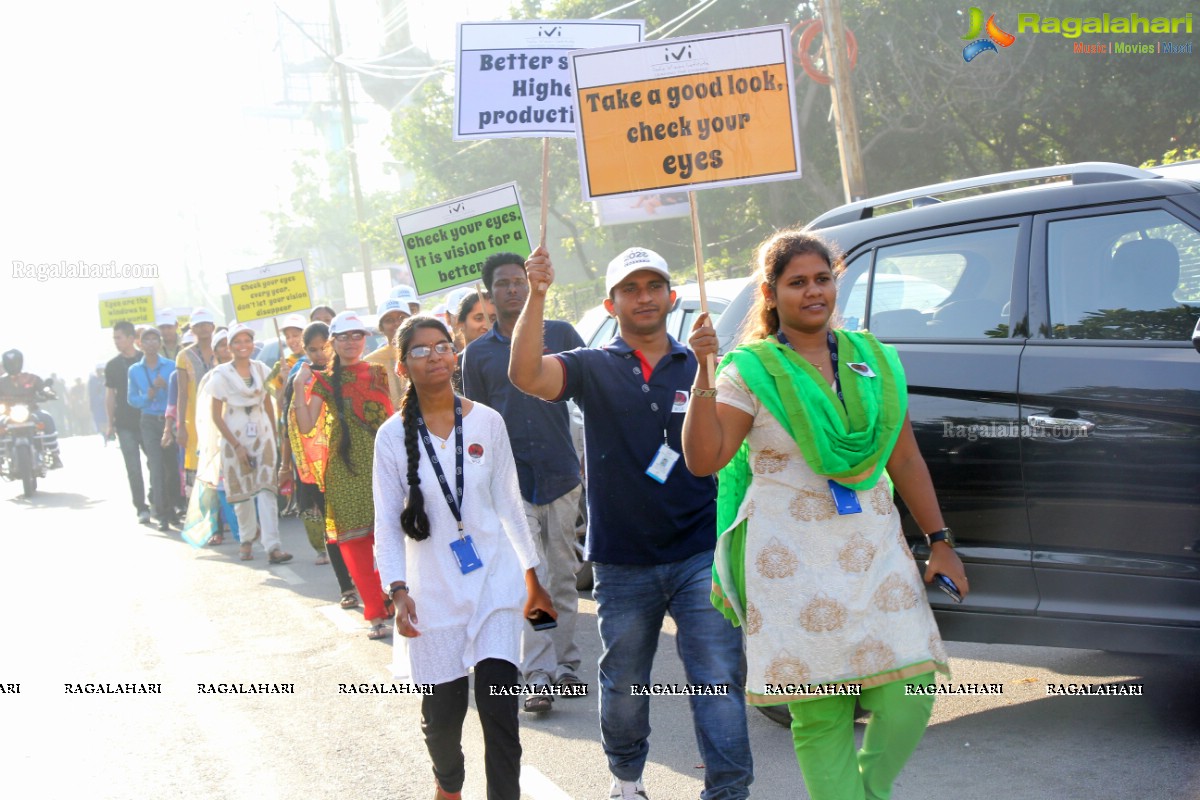
POLYGON ((600 742, 608 770, 623 781, 642 776, 650 744, 650 698, 630 686, 650 684, 650 667, 667 612, 688 682, 726 685, 728 693, 689 697, 696 744, 704 762, 702 800, 750 796, 754 763, 746 732, 742 632, 708 600, 713 554, 653 566, 594 564, 600 621, 600 742))

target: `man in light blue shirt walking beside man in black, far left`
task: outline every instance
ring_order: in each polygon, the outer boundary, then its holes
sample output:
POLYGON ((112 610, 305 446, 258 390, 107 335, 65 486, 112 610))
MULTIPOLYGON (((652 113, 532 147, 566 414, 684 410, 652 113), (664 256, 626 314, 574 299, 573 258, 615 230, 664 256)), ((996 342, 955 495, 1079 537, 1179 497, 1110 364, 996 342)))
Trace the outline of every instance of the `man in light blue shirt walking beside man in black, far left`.
POLYGON ((158 530, 166 531, 175 521, 167 482, 179 480, 174 461, 167 463, 162 447, 162 432, 167 420, 167 383, 170 373, 175 372, 175 365, 158 357, 162 335, 157 327, 143 330, 139 344, 143 355, 130 367, 128 404, 142 411, 142 451, 146 455, 150 471, 150 505, 158 518, 158 530))

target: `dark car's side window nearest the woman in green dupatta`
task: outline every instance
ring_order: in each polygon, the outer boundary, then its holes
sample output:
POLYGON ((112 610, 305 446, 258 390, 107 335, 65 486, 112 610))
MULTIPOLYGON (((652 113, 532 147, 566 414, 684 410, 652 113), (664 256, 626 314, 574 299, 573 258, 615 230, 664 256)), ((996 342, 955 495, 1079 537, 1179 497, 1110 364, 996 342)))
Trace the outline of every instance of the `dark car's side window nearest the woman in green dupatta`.
POLYGON ((1018 228, 974 230, 880 247, 842 278, 846 327, 881 337, 1007 338, 1018 228))

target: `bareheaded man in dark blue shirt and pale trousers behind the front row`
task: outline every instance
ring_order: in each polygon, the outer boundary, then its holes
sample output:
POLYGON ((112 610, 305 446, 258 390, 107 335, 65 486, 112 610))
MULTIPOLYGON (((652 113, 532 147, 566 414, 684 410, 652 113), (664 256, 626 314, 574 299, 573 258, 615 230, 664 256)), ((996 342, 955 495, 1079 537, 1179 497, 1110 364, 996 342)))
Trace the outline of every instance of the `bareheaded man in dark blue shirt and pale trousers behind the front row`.
MULTIPOLYGON (((538 579, 550 591, 558 612, 558 625, 550 631, 523 628, 521 672, 530 685, 578 686, 582 681, 576 674, 580 648, 575 644, 575 620, 580 594, 575 573, 580 560, 575 551, 575 519, 582 487, 570 416, 566 403, 544 403, 509 380, 512 329, 529 296, 524 259, 516 253, 488 257, 484 261, 484 287, 496 303, 496 324, 463 351, 463 393, 504 417, 526 518, 541 558, 538 579)), ((558 320, 542 324, 542 341, 544 353, 583 347, 575 327, 558 320)), ((523 708, 548 711, 551 697, 529 694, 523 708)))

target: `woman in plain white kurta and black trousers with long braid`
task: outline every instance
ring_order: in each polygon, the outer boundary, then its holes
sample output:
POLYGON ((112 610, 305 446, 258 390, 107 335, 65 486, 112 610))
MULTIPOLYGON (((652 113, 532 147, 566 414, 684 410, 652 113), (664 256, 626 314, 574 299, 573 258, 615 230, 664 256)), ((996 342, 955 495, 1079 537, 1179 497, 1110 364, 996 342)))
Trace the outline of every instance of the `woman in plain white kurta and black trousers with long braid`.
POLYGON ((474 669, 487 796, 517 800, 520 697, 492 687, 518 682, 526 620, 556 613, 534 571, 512 449, 498 413, 455 393, 455 350, 440 320, 404 320, 396 349, 408 389, 376 437, 374 495, 379 573, 403 637, 397 673, 433 685, 421 698, 421 730, 434 798, 461 798, 474 669))

